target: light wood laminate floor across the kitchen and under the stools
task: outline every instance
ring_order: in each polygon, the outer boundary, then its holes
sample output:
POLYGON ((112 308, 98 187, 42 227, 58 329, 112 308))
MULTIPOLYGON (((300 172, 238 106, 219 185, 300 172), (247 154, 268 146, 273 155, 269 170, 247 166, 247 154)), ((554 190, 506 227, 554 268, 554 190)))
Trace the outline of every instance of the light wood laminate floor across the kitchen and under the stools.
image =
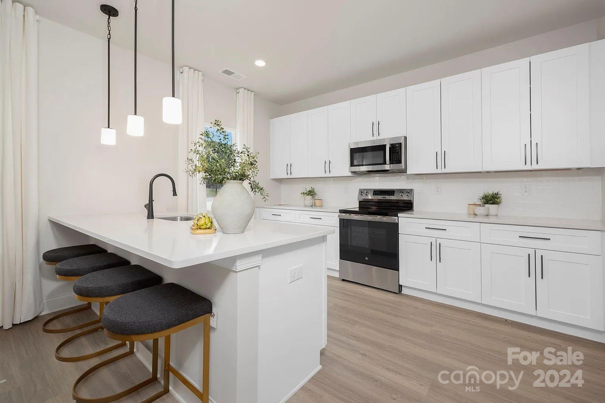
MULTIPOLYGON (((69 334, 44 334, 42 323, 49 316, 0 330, 0 382, 6 379, 0 383, 0 402, 71 402, 71 385, 80 373, 122 352, 60 363, 54 359, 54 347, 69 334)), ((112 342, 97 332, 65 353, 79 354, 112 342)), ((333 277, 328 282, 328 346, 322 350, 321 364, 322 369, 289 403, 605 402, 605 344, 333 277), (583 353, 584 362, 547 366, 541 355, 535 366, 518 361, 508 365, 508 347, 540 352, 546 347, 557 351, 572 347, 583 353), (476 366, 480 373, 524 373, 516 390, 507 387, 514 385, 512 380, 500 389, 495 383, 482 382, 479 392, 466 392, 465 384, 441 384, 437 379, 442 370, 466 373, 469 366, 476 366), (572 374, 581 369, 584 384, 580 388, 533 387, 538 369, 567 369, 572 374)), ((100 370, 79 390, 85 396, 106 395, 148 375, 136 356, 130 356, 100 370)), ((160 388, 154 382, 120 402, 140 402, 160 388)), ((158 402, 177 401, 168 395, 158 402)))

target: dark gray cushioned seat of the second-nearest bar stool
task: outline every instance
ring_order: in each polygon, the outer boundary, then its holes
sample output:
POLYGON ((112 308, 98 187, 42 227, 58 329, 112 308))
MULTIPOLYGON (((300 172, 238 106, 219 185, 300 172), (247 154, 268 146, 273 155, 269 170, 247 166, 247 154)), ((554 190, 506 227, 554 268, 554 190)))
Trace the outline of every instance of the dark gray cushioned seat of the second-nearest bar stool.
POLYGON ((113 267, 88 273, 74 282, 74 292, 80 297, 112 297, 162 284, 162 277, 143 266, 113 267))

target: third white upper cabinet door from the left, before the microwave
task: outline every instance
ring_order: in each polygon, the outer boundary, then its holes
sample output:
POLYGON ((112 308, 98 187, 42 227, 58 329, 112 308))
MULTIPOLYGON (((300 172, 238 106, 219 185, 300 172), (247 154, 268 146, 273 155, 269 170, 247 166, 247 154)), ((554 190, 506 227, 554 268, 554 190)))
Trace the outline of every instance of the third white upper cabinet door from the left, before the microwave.
POLYGON ((328 174, 328 107, 307 112, 309 124, 309 176, 328 174))

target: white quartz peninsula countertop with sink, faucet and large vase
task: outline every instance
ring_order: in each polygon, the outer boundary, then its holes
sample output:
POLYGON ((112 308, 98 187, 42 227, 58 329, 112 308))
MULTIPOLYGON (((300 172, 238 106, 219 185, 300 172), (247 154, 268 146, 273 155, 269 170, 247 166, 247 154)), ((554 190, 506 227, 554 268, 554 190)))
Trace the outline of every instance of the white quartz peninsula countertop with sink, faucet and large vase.
MULTIPOLYGON (((163 216, 180 215, 162 214, 163 216)), ((331 227, 290 222, 250 221, 243 234, 194 235, 191 221, 147 220, 145 211, 48 216, 65 225, 118 248, 171 268, 265 250, 334 233, 331 227)))

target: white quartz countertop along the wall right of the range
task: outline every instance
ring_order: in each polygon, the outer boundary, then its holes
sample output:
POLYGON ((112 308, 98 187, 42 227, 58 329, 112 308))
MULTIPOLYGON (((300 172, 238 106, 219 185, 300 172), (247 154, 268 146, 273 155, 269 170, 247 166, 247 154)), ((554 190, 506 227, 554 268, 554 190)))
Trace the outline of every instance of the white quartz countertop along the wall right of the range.
POLYGON ((569 228, 572 230, 605 231, 605 222, 567 218, 541 218, 525 216, 476 216, 465 213, 440 213, 436 211, 410 211, 399 217, 431 220, 484 222, 486 224, 527 225, 528 227, 569 228))

